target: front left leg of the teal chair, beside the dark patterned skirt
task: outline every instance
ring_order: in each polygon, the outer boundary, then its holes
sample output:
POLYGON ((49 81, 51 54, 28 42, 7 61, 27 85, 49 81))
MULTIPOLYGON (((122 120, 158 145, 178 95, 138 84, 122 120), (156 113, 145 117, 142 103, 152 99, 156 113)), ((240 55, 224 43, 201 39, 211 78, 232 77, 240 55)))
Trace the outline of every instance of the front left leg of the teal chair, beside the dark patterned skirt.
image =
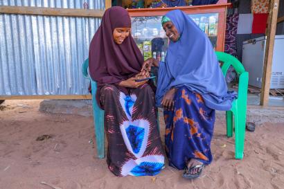
POLYGON ((104 113, 100 107, 98 107, 96 102, 96 89, 93 87, 92 82, 92 102, 93 102, 93 115, 94 115, 94 127, 95 127, 95 136, 96 136, 96 147, 97 147, 97 156, 102 159, 105 157, 105 132, 104 132, 104 113))

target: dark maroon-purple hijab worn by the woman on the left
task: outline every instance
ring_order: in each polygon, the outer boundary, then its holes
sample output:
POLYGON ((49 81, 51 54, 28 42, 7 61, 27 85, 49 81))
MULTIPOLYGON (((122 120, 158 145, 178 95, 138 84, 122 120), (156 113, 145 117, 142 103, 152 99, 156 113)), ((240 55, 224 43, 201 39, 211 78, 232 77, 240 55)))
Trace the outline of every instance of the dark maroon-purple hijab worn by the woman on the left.
POLYGON ((116 84, 124 93, 127 88, 119 87, 119 82, 139 73, 143 56, 131 35, 123 44, 114 42, 114 28, 130 28, 130 15, 124 8, 114 6, 105 11, 100 27, 89 47, 89 72, 97 82, 96 100, 100 105, 100 89, 105 84, 116 84))

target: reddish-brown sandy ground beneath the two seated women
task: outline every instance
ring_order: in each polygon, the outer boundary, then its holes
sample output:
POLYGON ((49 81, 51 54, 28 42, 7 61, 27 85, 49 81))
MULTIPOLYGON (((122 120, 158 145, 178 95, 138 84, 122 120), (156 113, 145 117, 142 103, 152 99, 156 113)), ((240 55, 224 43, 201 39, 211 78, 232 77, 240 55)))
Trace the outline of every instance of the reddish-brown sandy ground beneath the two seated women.
MULTIPOLYGON (((234 139, 217 120, 214 161, 194 181, 166 168, 156 177, 115 177, 96 158, 91 117, 39 112, 40 100, 6 100, 0 109, 0 188, 283 188, 284 123, 257 125, 246 134, 245 157, 234 159, 234 139), (36 141, 48 134, 52 138, 36 141), (51 186, 45 186, 44 181, 51 186)), ((164 126, 161 125, 161 136, 164 126)), ((163 138, 163 137, 162 137, 163 138)))

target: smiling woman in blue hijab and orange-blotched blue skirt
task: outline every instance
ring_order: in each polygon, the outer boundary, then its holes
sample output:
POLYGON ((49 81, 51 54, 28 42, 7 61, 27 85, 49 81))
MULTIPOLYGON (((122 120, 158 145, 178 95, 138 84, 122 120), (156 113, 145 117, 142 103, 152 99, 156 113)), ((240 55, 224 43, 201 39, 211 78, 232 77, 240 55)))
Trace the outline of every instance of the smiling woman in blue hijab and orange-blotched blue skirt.
POLYGON ((164 109, 170 166, 194 179, 213 159, 215 109, 231 109, 236 93, 228 92, 210 40, 188 15, 172 10, 162 25, 170 39, 166 60, 150 59, 143 69, 159 67, 156 102, 164 109))

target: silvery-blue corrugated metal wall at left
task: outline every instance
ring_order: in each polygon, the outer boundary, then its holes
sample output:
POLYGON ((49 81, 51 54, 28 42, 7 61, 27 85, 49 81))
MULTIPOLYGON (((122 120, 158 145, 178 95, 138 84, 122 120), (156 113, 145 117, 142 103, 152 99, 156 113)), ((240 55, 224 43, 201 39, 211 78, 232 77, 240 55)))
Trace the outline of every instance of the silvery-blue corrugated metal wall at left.
MULTIPOLYGON (((0 6, 105 9, 105 0, 15 0, 0 6)), ((87 94, 81 65, 99 18, 0 15, 0 96, 87 94)))

